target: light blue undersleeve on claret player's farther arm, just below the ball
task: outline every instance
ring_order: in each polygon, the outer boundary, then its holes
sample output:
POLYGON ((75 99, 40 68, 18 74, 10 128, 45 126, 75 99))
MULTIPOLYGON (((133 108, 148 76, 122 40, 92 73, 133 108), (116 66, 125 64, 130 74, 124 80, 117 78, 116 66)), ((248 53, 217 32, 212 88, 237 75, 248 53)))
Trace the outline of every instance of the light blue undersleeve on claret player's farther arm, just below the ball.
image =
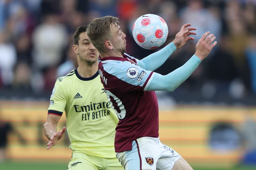
POLYGON ((137 64, 145 70, 154 71, 160 67, 176 49, 174 43, 171 42, 161 50, 148 55, 142 60, 136 59, 137 64))

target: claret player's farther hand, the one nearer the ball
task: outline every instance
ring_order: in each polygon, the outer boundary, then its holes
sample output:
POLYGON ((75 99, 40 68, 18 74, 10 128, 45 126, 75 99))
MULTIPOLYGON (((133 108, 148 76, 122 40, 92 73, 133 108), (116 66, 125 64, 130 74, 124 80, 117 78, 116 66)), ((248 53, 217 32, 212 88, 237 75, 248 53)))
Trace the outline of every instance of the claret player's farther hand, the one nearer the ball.
POLYGON ((176 48, 179 49, 186 44, 189 40, 195 40, 194 37, 189 37, 189 35, 196 35, 195 32, 191 32, 192 30, 196 30, 194 27, 189 27, 191 24, 185 24, 181 27, 180 32, 176 34, 173 43, 175 44, 176 48), (186 29, 187 28, 187 29, 186 29))

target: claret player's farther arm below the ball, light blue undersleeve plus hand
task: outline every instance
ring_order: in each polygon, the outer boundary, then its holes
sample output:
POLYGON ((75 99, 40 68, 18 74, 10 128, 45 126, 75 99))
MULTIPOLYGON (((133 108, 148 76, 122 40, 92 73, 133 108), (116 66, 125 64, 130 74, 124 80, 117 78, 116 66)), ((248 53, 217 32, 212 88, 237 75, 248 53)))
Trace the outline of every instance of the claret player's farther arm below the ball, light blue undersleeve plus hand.
POLYGON ((181 27, 180 32, 176 34, 175 39, 162 48, 161 50, 148 55, 147 57, 143 58, 142 60, 137 60, 137 64, 146 70, 154 71, 158 67, 160 67, 172 53, 176 50, 181 48, 183 45, 186 44, 189 40, 195 40, 194 37, 189 37, 189 35, 196 35, 195 32, 191 32, 192 30, 196 30, 194 27, 189 27, 191 24, 185 24, 181 27))

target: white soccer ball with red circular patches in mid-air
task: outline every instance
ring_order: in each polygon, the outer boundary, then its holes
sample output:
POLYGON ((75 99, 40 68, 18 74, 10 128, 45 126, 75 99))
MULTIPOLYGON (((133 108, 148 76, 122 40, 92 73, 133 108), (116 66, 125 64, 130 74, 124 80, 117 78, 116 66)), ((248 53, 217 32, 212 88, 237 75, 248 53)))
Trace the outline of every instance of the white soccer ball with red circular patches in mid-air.
POLYGON ((168 26, 164 19, 158 15, 145 14, 134 22, 132 36, 140 47, 156 49, 166 41, 168 26))

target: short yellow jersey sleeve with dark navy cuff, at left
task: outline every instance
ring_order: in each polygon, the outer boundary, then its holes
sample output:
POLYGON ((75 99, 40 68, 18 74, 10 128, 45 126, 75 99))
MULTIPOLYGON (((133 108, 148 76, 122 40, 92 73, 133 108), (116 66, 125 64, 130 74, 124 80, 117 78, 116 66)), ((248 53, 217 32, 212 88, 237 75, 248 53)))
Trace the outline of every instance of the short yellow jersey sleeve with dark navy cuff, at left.
POLYGON ((50 97, 50 106, 48 108, 48 115, 59 115, 61 116, 67 103, 66 93, 60 82, 57 80, 50 97))

